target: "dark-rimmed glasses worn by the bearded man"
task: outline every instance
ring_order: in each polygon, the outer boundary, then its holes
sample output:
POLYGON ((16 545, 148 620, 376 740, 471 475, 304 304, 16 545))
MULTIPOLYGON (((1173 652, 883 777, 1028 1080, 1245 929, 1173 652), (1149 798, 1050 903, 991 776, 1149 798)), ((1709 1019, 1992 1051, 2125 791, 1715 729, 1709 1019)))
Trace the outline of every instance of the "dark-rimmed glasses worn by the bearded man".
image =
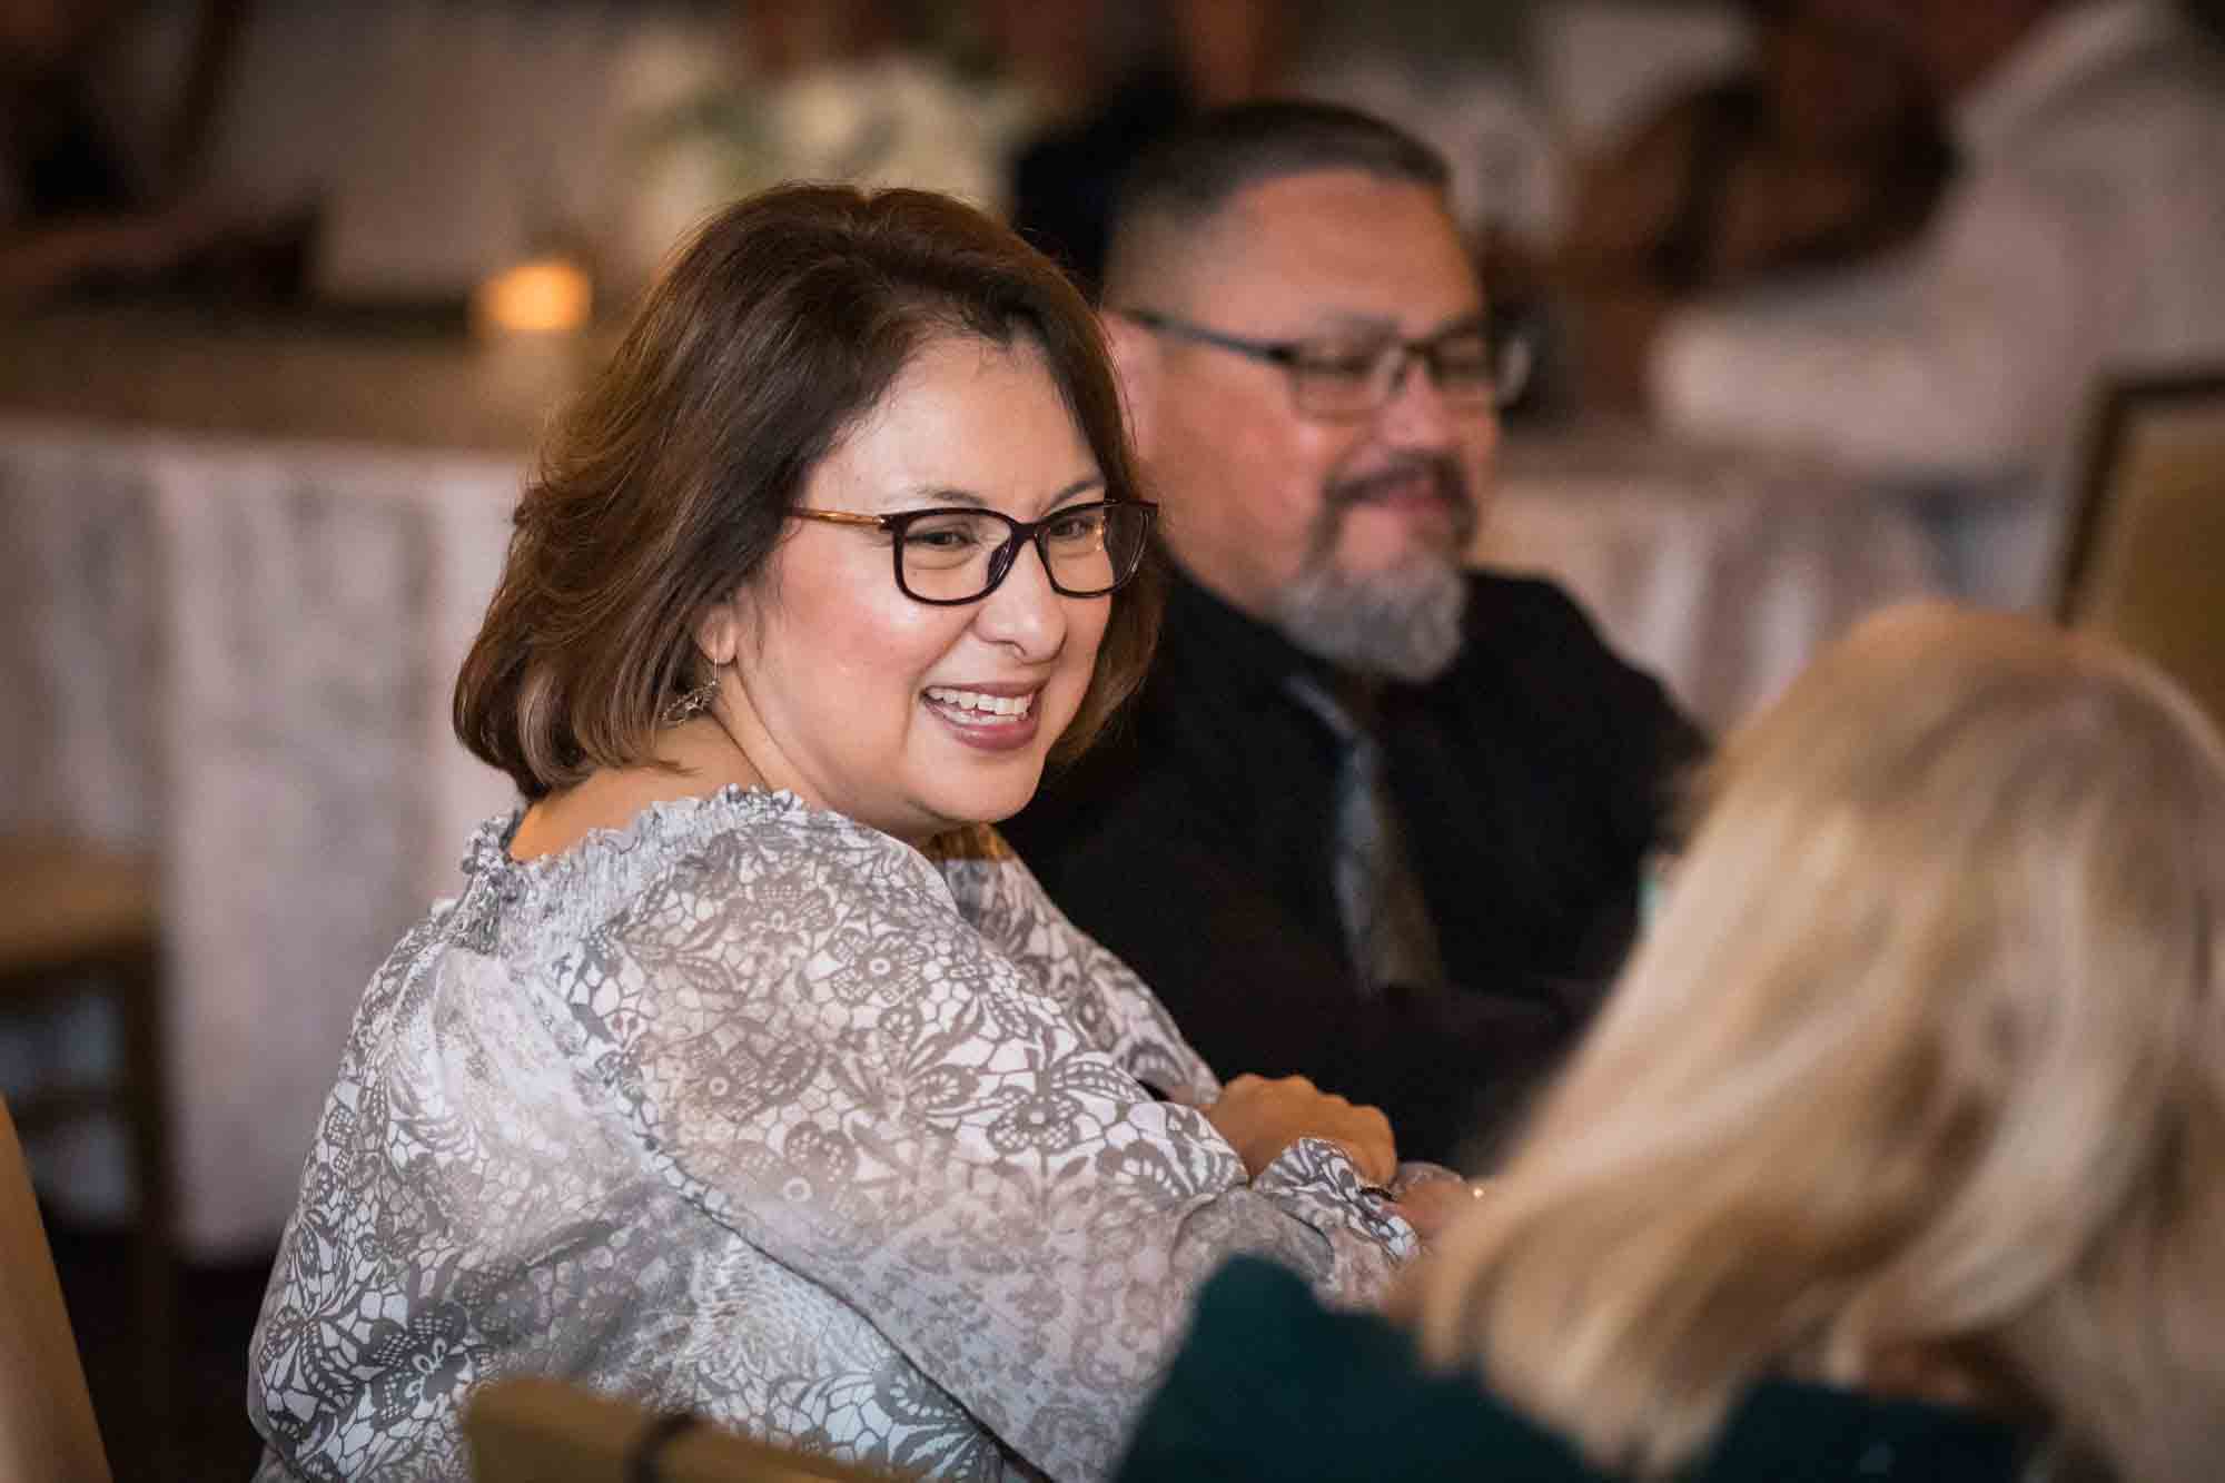
POLYGON ((1513 405, 1531 374, 1529 336, 1486 325, 1455 325, 1420 341, 1248 341, 1155 310, 1121 314, 1155 334, 1279 365, 1290 379, 1297 410, 1319 419, 1357 419, 1382 410, 1406 385, 1406 367, 1415 361, 1428 367, 1446 405, 1471 412, 1513 405))

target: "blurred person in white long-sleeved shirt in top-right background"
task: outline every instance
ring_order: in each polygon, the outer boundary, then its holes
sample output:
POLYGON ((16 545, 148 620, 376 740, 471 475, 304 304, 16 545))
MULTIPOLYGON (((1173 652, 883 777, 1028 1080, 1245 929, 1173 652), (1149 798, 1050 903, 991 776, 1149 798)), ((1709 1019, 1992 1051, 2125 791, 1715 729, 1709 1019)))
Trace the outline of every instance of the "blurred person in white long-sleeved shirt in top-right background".
POLYGON ((1687 434, 1800 445, 1927 497, 1954 579, 2045 597, 2098 381, 2225 356, 2225 67, 2167 0, 1829 0, 1951 107, 1907 263, 1669 318, 1687 434))

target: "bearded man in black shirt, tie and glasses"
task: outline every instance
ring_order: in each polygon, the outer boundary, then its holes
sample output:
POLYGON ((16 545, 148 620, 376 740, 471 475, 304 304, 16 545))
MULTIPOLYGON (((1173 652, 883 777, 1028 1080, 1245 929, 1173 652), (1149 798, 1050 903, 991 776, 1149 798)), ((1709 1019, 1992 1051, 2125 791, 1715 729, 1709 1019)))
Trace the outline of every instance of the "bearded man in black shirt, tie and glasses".
POLYGON ((1466 570, 1520 359, 1426 145, 1208 114, 1137 165, 1104 305, 1166 623, 1006 833, 1210 1064, 1475 1169, 1620 964, 1700 737, 1558 588, 1466 570))

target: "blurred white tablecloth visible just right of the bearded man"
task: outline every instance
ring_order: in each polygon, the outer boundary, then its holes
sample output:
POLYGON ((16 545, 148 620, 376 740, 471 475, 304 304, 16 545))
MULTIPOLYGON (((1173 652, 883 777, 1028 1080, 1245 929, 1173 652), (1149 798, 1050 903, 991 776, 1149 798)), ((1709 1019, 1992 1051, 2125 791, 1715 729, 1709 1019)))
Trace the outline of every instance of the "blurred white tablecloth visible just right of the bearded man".
POLYGON ((1711 730, 1865 612, 1947 590, 1916 512, 1842 472, 1606 430, 1511 436, 1475 559, 1558 579, 1711 730))

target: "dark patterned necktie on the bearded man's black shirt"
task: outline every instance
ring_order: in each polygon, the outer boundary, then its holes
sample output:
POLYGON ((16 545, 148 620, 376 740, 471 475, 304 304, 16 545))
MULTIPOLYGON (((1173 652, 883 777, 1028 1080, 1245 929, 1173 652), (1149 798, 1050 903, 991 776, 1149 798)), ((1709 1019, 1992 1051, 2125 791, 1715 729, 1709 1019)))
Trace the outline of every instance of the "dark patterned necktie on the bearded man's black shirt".
POLYGON ((1344 944, 1362 993, 1382 984, 1444 986, 1437 929, 1422 900, 1422 882, 1406 860, 1404 833, 1382 746, 1328 690, 1306 677, 1290 679, 1295 695, 1344 748, 1337 766, 1335 891, 1344 944))

